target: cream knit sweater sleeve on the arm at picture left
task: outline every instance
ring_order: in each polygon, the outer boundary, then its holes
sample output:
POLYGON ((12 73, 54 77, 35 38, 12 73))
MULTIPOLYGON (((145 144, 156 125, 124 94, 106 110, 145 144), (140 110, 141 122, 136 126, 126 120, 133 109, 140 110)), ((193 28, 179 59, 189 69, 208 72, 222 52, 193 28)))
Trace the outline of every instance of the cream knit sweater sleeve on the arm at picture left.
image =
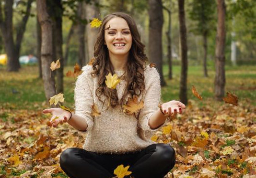
POLYGON ((84 66, 82 71, 83 73, 78 76, 75 84, 74 100, 75 114, 83 117, 88 125, 85 131, 78 131, 86 133, 92 129, 94 124, 93 117, 90 115, 92 111, 91 106, 93 105, 93 94, 89 85, 89 65, 84 66))

